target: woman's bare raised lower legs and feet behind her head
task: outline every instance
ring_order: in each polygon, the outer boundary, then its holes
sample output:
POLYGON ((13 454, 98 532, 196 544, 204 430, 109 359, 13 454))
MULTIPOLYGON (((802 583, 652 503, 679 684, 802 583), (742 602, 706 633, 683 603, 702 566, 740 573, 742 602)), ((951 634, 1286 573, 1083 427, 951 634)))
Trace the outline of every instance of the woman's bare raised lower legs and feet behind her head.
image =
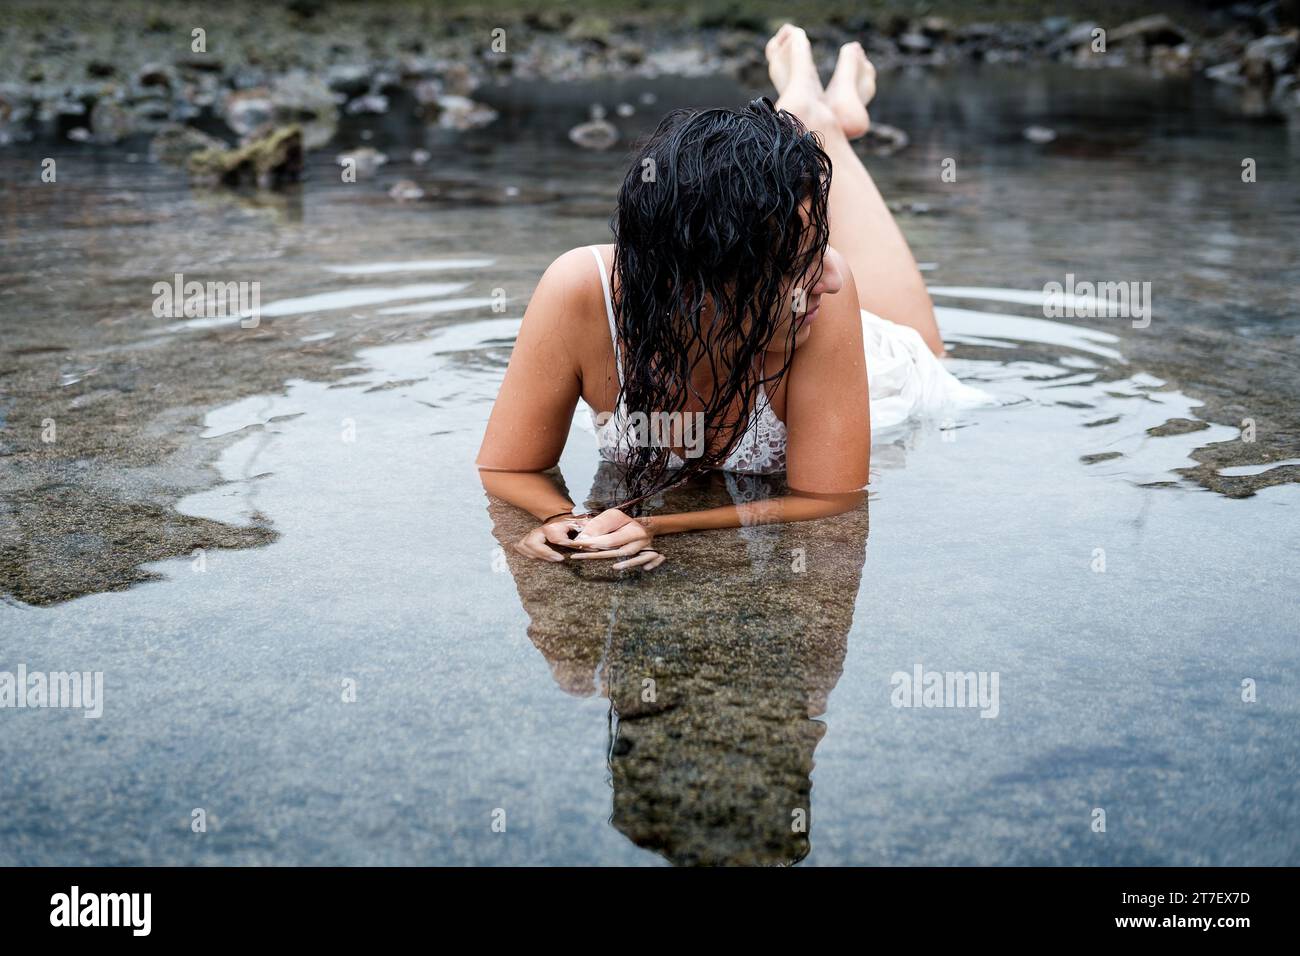
POLYGON ((767 44, 779 109, 794 113, 822 137, 835 166, 831 178, 831 245, 849 261, 862 308, 910 325, 936 355, 944 342, 916 260, 881 199, 849 135, 867 129, 864 100, 875 91, 875 69, 857 43, 845 44, 829 90, 822 88, 807 35, 786 23, 767 44), (848 130, 848 134, 846 134, 848 130))

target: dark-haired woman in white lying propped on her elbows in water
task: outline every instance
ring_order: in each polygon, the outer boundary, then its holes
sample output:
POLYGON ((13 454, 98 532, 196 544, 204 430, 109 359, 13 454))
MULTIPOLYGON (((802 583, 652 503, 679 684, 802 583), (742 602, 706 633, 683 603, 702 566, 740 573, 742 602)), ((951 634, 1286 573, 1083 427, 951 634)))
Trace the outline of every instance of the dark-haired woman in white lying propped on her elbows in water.
POLYGON ((670 113, 624 179, 615 243, 562 255, 529 302, 478 454, 488 492, 541 522, 526 555, 650 570, 664 535, 840 514, 864 494, 872 418, 984 398, 939 360, 920 272, 849 144, 875 94, 861 44, 826 88, 798 27, 767 60, 775 108, 670 113), (580 397, 630 496, 598 515, 541 473, 580 397), (636 516, 710 470, 784 471, 789 494, 636 516))

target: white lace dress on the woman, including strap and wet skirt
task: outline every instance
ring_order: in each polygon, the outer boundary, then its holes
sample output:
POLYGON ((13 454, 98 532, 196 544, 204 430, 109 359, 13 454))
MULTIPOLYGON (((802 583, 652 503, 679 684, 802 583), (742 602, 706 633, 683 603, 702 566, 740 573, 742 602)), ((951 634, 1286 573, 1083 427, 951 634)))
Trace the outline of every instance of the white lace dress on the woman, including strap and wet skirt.
MULTIPOLYGON (((623 354, 614 324, 614 302, 610 298, 610 273, 601 250, 589 246, 601 271, 604 290, 604 315, 610 320, 615 369, 623 386, 623 354)), ((944 363, 930 351, 920 333, 907 325, 862 311, 862 345, 867 359, 867 382, 871 401, 871 437, 876 440, 889 429, 919 418, 942 419, 957 408, 974 405, 996 405, 987 392, 958 381, 944 363)), ((601 446, 601 458, 625 462, 632 447, 633 431, 625 425, 623 403, 612 414, 592 408, 592 427, 601 446)), ((758 402, 749 416, 749 427, 740 442, 727 455, 722 471, 742 475, 771 475, 785 471, 785 423, 776 418, 767 393, 759 385, 758 402)), ((685 462, 670 453, 670 464, 680 468, 685 462)))

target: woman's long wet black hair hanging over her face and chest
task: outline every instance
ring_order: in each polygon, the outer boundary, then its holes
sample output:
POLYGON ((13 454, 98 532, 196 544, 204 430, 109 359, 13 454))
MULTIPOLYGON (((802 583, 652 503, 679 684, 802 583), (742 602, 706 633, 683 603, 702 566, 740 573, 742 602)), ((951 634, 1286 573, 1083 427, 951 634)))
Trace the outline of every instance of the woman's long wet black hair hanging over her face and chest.
MULTIPOLYGON (((619 397, 629 414, 653 415, 680 411, 694 395, 705 454, 670 472, 668 449, 633 442, 633 501, 725 460, 759 384, 788 371, 793 347, 766 378, 763 352, 792 313, 793 284, 820 278, 829 189, 831 159, 816 137, 767 98, 742 109, 673 111, 646 140, 612 222, 619 397), (707 398, 692 384, 701 363, 716 382, 707 398)), ((790 339, 796 332, 789 323, 790 339)))

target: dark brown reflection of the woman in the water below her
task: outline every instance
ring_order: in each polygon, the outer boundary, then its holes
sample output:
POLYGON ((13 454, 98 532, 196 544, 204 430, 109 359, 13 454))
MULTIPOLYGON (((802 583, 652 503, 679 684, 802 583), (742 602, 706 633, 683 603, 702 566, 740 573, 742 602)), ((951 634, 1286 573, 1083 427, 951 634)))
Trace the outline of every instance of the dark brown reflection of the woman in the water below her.
MULTIPOLYGON (((589 506, 616 498, 603 463, 589 506)), ((670 511, 783 494, 715 475, 670 511)), ((675 864, 785 865, 810 840, 816 719, 844 667, 866 559, 867 509, 832 519, 664 538, 649 575, 517 554, 536 524, 491 499, 528 636, 555 682, 610 700, 611 822, 675 864)))

